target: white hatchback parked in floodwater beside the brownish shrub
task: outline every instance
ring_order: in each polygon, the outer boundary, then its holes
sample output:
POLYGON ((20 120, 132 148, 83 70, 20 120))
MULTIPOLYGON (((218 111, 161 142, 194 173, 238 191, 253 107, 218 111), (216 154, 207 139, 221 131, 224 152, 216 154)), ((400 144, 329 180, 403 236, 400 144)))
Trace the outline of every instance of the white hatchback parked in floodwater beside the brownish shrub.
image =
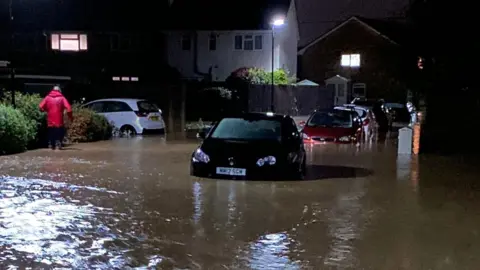
POLYGON ((122 133, 165 133, 162 110, 145 99, 98 99, 83 107, 105 116, 122 133))

